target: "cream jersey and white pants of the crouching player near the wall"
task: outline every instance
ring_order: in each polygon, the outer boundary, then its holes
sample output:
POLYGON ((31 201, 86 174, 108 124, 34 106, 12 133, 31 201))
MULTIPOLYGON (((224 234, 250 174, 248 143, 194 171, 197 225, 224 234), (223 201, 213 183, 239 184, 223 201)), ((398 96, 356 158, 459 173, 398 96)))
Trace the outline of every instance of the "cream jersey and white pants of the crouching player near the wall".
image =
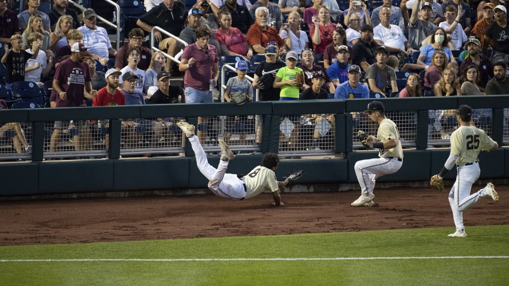
POLYGON ((403 165, 403 149, 401 148, 400 133, 392 120, 384 119, 380 123, 377 132, 379 142, 389 139, 396 141, 396 147, 380 149, 379 158, 357 161, 355 163, 355 175, 359 181, 361 193, 370 195, 375 188, 375 181, 383 175, 396 173, 403 165))

